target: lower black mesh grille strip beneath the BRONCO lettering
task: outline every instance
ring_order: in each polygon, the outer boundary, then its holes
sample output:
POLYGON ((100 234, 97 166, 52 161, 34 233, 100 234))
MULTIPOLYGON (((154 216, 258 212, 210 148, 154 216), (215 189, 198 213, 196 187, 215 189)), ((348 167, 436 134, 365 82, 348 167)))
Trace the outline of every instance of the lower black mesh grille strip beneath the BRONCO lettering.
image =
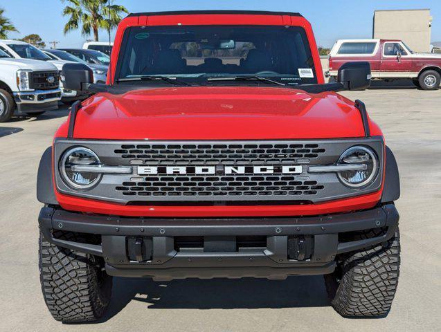
POLYGON ((295 176, 147 176, 116 187, 125 196, 311 196, 323 190, 316 181, 295 176))

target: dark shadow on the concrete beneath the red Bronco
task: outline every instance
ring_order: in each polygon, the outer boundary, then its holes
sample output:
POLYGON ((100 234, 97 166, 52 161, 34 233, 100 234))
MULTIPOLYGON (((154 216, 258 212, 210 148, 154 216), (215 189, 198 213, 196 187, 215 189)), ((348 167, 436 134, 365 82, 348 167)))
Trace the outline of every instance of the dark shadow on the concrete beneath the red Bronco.
POLYGON ((114 278, 107 322, 131 301, 145 309, 236 309, 298 308, 330 306, 321 275, 267 279, 182 279, 154 282, 152 279, 114 278))

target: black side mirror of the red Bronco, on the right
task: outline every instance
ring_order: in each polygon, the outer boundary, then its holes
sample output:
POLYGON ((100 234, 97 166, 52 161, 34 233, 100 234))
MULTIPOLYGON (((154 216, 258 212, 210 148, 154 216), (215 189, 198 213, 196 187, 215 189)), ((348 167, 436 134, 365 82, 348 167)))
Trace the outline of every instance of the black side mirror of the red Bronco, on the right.
POLYGON ((346 62, 339 68, 338 82, 348 90, 366 90, 372 75, 369 62, 346 62))

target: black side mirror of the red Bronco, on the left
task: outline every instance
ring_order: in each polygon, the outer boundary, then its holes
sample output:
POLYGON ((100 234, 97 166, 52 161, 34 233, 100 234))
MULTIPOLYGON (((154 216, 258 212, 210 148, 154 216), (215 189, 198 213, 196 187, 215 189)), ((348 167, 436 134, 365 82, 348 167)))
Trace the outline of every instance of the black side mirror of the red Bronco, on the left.
POLYGON ((66 90, 87 91, 93 83, 93 71, 85 64, 64 64, 62 77, 66 90))

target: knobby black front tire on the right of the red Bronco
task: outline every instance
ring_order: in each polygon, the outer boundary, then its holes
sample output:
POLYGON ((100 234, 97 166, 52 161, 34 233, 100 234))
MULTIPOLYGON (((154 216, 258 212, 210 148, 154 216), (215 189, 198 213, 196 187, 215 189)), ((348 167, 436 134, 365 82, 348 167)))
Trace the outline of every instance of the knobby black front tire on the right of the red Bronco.
POLYGON ((332 307, 343 317, 385 317, 397 291, 398 228, 389 241, 341 256, 334 273, 325 275, 332 307))

